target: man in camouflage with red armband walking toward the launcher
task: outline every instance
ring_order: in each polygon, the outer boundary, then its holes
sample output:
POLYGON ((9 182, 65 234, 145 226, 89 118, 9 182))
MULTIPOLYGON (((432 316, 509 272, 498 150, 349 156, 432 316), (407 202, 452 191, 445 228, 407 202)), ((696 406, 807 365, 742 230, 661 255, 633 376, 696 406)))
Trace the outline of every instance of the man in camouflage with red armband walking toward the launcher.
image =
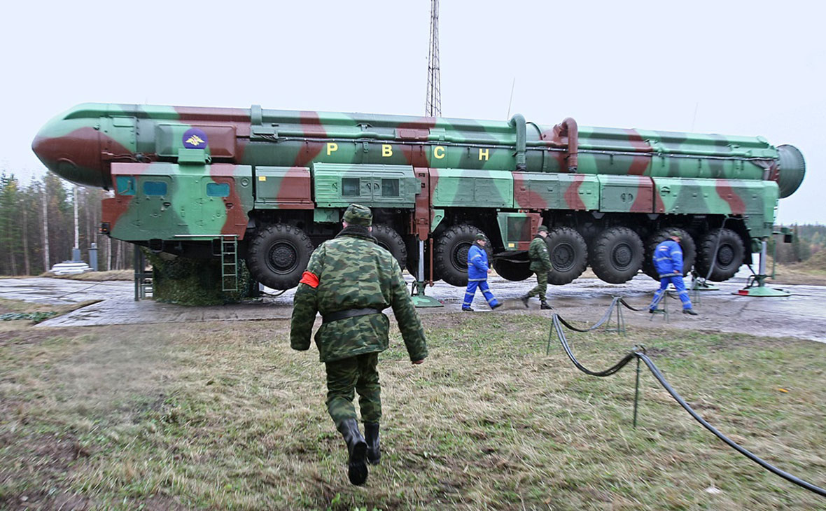
POLYGON ((407 292, 401 267, 391 253, 376 244, 370 209, 351 204, 344 211, 344 229, 312 253, 293 299, 290 345, 310 348, 316 312, 320 360, 327 369, 327 411, 344 437, 349 452, 349 480, 367 479, 367 463, 381 457, 378 421, 382 417, 378 353, 387 349, 390 320, 382 310, 392 307, 411 362, 427 357, 425 331, 407 292), (354 390, 364 423, 358 431, 354 390))

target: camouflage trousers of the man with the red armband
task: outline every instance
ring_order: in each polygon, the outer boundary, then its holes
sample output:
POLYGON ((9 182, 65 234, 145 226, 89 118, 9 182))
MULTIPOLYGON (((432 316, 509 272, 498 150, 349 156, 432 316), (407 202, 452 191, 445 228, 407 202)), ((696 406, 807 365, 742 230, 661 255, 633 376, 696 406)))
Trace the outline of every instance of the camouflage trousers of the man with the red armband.
POLYGON ((336 428, 346 419, 357 419, 353 406, 354 390, 362 422, 377 423, 382 418, 382 386, 378 383, 378 353, 326 362, 327 412, 336 428))

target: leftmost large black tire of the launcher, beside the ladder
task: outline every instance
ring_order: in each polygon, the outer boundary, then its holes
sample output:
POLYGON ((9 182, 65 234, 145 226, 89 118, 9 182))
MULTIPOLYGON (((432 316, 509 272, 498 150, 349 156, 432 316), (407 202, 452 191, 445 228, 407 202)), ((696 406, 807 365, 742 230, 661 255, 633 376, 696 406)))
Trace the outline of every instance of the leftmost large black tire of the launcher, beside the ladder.
POLYGON ((259 228, 247 249, 249 274, 264 286, 290 289, 298 285, 313 247, 304 231, 292 225, 259 228))

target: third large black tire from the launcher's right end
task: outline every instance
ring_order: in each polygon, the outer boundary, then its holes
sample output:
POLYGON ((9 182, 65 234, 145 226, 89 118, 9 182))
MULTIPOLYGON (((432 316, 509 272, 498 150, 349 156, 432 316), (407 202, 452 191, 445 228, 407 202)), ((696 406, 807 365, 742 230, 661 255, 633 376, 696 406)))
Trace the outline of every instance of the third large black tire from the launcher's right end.
POLYGON ((594 239, 588 251, 596 277, 611 284, 628 282, 643 266, 643 240, 628 227, 610 227, 594 239))

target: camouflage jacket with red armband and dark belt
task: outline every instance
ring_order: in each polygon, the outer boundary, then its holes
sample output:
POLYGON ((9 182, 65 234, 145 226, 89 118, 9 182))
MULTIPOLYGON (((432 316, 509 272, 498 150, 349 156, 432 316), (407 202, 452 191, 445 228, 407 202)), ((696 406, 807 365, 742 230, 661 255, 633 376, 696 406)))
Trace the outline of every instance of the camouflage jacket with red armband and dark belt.
MULTIPOLYGON (((316 312, 392 307, 411 361, 427 357, 425 331, 407 292, 401 267, 367 229, 349 225, 312 253, 292 303, 290 346, 310 348, 316 312), (308 275, 308 273, 310 275, 308 275)), ((383 314, 339 319, 316 332, 321 362, 387 349, 390 320, 383 314)))

